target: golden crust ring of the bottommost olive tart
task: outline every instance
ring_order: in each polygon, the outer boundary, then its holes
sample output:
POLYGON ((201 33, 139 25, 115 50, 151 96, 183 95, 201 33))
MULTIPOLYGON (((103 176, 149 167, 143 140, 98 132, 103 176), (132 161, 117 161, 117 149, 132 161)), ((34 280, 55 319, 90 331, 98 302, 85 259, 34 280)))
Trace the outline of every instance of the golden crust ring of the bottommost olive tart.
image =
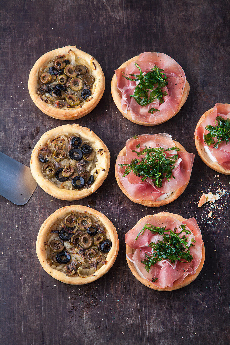
POLYGON ((36 253, 37 253, 41 266, 53 278, 60 280, 60 282, 63 282, 66 284, 82 285, 82 284, 88 284, 88 283, 94 282, 94 280, 97 280, 98 278, 102 277, 106 272, 108 272, 108 270, 113 266, 116 260, 118 247, 119 247, 119 242, 118 242, 116 228, 113 226, 111 221, 105 215, 86 206, 73 205, 73 206, 66 206, 66 207, 59 208, 44 221, 44 223, 42 224, 38 232, 38 237, 37 237, 37 242, 36 242, 36 253), (96 218, 98 218, 104 224, 106 230, 109 233, 110 239, 112 241, 112 248, 106 257, 106 260, 108 261, 107 264, 104 264, 101 268, 96 270, 94 275, 85 277, 85 278, 82 278, 79 276, 68 277, 65 275, 65 273, 60 272, 54 268, 51 268, 47 262, 47 254, 46 254, 46 249, 44 245, 47 234, 49 233, 51 226, 58 219, 63 218, 66 214, 68 214, 71 211, 80 212, 88 216, 93 215, 96 218))

